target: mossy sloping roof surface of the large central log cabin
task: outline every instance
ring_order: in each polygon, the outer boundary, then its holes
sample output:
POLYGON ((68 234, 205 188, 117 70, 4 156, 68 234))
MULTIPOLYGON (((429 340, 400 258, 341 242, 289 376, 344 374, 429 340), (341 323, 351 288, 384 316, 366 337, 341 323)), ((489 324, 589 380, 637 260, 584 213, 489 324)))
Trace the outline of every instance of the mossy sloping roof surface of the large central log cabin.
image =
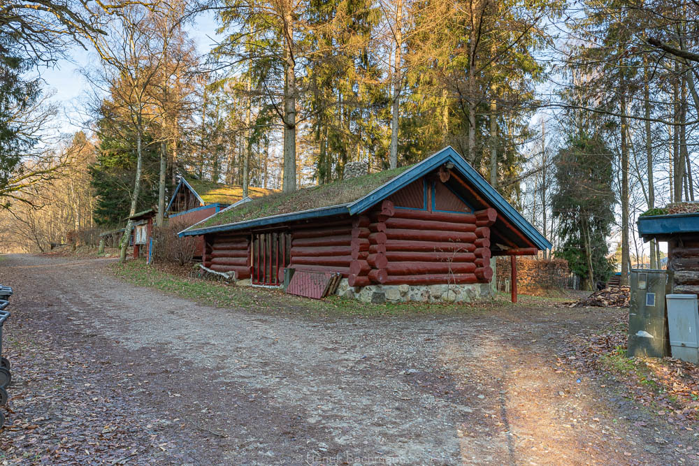
POLYGON ((298 191, 289 194, 270 194, 269 196, 253 199, 243 205, 222 210, 192 228, 199 229, 208 226, 234 224, 239 221, 352 203, 386 184, 405 170, 408 170, 408 168, 410 166, 379 173, 370 173, 369 175, 350 178, 349 180, 298 189, 298 191))

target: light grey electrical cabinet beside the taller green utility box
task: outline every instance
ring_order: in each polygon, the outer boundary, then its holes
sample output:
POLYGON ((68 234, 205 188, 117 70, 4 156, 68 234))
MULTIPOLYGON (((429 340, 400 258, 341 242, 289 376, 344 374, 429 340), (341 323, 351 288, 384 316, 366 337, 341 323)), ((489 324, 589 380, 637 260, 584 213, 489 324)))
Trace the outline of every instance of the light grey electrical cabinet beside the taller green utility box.
POLYGON ((668 295, 668 328, 672 357, 699 363, 699 312, 696 295, 668 295))

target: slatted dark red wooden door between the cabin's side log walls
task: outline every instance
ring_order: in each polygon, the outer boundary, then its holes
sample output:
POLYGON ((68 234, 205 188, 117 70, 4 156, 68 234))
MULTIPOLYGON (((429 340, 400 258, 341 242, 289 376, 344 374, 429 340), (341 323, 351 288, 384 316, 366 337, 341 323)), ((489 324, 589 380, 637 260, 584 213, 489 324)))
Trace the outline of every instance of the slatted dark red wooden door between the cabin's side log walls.
POLYGON ((280 285, 291 256, 291 235, 283 231, 252 233, 252 283, 280 285))

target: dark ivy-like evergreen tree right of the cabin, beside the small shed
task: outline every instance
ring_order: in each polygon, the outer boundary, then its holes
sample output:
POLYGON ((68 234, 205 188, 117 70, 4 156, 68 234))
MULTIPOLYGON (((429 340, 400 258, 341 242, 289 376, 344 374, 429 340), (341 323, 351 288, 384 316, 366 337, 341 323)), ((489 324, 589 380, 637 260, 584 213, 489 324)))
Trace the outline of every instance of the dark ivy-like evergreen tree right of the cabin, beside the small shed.
POLYGON ((556 256, 568 261, 589 290, 612 272, 607 238, 614 222, 613 159, 602 138, 585 131, 572 136, 554 159, 552 206, 561 240, 556 256))

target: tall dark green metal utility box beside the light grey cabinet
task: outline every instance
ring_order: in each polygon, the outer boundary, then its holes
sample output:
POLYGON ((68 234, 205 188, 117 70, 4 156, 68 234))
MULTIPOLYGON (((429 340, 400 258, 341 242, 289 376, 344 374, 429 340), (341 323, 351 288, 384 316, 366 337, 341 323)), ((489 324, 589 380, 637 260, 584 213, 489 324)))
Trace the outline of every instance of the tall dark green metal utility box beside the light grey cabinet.
POLYGON ((672 293, 672 278, 672 270, 631 270, 628 356, 670 356, 665 296, 672 293))

